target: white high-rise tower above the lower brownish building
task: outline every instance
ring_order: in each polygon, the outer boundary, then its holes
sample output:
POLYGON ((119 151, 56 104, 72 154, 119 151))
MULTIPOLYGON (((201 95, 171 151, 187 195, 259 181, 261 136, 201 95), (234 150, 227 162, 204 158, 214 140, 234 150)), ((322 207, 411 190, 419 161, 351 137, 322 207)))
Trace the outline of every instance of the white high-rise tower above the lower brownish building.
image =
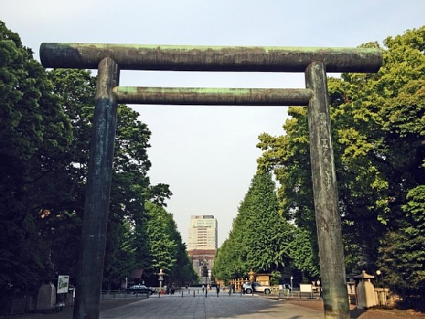
POLYGON ((213 215, 192 215, 188 250, 217 250, 217 219, 213 215))

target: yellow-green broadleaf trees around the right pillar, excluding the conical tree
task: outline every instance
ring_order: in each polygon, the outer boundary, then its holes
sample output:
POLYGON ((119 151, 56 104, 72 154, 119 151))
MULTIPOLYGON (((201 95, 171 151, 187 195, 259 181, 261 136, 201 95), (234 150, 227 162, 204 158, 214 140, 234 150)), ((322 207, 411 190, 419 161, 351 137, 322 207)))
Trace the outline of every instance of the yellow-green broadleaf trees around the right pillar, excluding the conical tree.
MULTIPOLYGON (((387 38, 384 44, 384 64, 377 74, 328 80, 346 266, 347 272, 382 267, 393 289, 409 285, 417 292, 424 289, 420 274, 425 270, 419 244, 425 27, 387 38)), ((283 215, 309 233, 316 247, 306 111, 290 108, 289 113, 286 135, 261 135, 259 167, 275 174, 283 215)))

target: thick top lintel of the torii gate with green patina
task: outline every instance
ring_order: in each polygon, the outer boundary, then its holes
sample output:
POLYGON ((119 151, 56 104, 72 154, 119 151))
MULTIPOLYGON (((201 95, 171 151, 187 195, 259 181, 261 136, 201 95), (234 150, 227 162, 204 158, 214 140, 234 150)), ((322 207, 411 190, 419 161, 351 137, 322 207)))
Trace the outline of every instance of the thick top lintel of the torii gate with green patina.
POLYGON ((97 69, 111 57, 120 69, 228 72, 305 72, 314 61, 327 72, 377 72, 382 50, 369 47, 230 47, 42 43, 44 67, 97 69))

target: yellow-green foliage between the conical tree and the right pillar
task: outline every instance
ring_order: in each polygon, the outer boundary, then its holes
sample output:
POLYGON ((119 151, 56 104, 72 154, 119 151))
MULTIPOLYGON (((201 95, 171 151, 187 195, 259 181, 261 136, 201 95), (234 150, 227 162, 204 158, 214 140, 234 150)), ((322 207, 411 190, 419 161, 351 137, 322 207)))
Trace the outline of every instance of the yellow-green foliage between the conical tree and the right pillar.
MULTIPOLYGON (((290 107, 288 113, 291 118, 283 125, 286 135, 273 137, 263 133, 259 136, 257 147, 263 150, 263 155, 257 162, 260 171, 273 172, 279 181, 280 214, 302 230, 302 234, 299 234, 302 238, 305 238, 304 235, 309 237, 310 248, 307 250, 312 253, 308 258, 312 264, 307 268, 304 265, 300 270, 305 272, 311 269, 311 276, 314 276, 319 268, 319 248, 312 194, 307 110, 290 107)), ((295 255, 294 258, 298 259, 295 255)))

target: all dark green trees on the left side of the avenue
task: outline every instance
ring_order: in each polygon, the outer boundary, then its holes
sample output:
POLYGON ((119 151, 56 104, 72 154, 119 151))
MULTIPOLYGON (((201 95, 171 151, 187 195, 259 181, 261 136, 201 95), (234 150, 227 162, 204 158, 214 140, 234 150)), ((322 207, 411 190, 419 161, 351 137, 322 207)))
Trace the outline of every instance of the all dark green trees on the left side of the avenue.
MULTIPOLYGON (((46 73, 0 22, 0 289, 36 289, 75 274, 95 93, 89 71, 46 73)), ((150 132, 138 117, 118 106, 105 287, 159 264, 179 280, 193 277, 171 214, 153 204, 171 192, 150 184, 150 132)))

